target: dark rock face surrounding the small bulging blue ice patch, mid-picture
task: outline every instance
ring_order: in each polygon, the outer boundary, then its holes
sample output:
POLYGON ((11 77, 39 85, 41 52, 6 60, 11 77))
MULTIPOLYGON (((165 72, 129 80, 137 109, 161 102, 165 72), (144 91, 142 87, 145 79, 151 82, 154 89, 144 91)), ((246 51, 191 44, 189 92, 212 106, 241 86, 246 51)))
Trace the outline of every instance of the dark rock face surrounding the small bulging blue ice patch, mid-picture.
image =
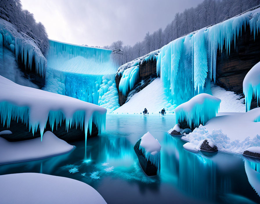
POLYGON ((115 76, 115 83, 116 88, 118 90, 118 98, 119 98, 119 105, 122 106, 124 103, 126 103, 128 95, 133 94, 132 91, 134 91, 134 94, 141 91, 143 88, 145 88, 147 85, 149 85, 156 77, 156 60, 151 60, 148 62, 144 62, 140 65, 139 68, 139 80, 136 82, 136 85, 132 90, 129 90, 126 96, 124 96, 119 91, 119 82, 122 76, 115 76), (130 93, 132 92, 132 93, 130 93))

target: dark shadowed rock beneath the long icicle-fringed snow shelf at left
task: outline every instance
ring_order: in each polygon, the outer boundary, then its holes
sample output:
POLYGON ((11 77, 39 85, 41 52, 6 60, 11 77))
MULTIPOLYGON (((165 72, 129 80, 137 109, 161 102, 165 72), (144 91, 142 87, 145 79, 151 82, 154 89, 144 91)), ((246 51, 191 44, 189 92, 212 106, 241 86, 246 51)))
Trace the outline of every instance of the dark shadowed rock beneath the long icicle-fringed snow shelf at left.
MULTIPOLYGON (((18 123, 14 120, 11 120, 9 128, 7 128, 6 125, 3 127, 3 124, 0 124, 0 132, 3 130, 10 130, 12 132, 12 134, 1 134, 1 137, 11 142, 34 139, 40 136, 39 131, 37 131, 33 136, 32 131, 29 132, 28 126, 22 123, 21 120, 18 121, 18 123)), ((83 130, 84 130, 84 125, 83 125, 83 130)), ((63 139, 67 142, 79 141, 85 139, 84 131, 82 131, 80 127, 76 128, 75 126, 73 126, 67 131, 65 121, 62 123, 61 126, 58 125, 57 130, 54 127, 53 131, 50 128, 49 121, 47 121, 46 129, 44 130, 44 132, 46 131, 53 132, 58 138, 63 139)), ((92 123, 92 133, 90 135, 88 131, 88 138, 97 135, 98 135, 98 128, 94 123, 92 123)))

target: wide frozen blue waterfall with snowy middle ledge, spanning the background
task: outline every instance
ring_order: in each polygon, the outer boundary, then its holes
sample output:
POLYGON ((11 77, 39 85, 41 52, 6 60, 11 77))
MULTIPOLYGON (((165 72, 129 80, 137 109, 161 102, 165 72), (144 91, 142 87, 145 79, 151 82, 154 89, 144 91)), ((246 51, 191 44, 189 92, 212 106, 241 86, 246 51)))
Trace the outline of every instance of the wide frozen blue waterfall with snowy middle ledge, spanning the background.
POLYGON ((112 50, 49 41, 44 90, 71 96, 114 110, 116 66, 112 50), (105 98, 109 96, 112 100, 105 98))

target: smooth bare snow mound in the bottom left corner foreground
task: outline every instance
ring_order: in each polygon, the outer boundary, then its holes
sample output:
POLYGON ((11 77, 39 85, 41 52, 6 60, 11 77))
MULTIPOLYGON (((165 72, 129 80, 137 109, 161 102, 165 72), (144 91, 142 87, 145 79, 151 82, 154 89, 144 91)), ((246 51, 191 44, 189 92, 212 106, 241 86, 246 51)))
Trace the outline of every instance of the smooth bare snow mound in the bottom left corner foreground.
POLYGON ((91 186, 71 178, 38 173, 0 176, 1 203, 106 203, 91 186))

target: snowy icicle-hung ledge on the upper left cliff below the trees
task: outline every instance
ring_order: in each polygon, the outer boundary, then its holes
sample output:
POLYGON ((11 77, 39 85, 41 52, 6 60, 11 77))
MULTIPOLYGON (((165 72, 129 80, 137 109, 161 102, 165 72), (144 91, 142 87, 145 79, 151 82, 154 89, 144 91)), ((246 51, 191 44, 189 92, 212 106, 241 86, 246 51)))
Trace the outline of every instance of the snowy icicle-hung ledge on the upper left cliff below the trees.
MULTIPOLYGON (((20 57, 25 67, 32 69, 35 63, 36 73, 41 77, 45 77, 47 60, 41 53, 40 49, 33 42, 33 39, 24 33, 19 33, 12 24, 7 21, 0 22, 0 46, 4 46, 15 53, 18 60, 20 57)), ((0 57, 2 56, 0 49, 0 57)))

